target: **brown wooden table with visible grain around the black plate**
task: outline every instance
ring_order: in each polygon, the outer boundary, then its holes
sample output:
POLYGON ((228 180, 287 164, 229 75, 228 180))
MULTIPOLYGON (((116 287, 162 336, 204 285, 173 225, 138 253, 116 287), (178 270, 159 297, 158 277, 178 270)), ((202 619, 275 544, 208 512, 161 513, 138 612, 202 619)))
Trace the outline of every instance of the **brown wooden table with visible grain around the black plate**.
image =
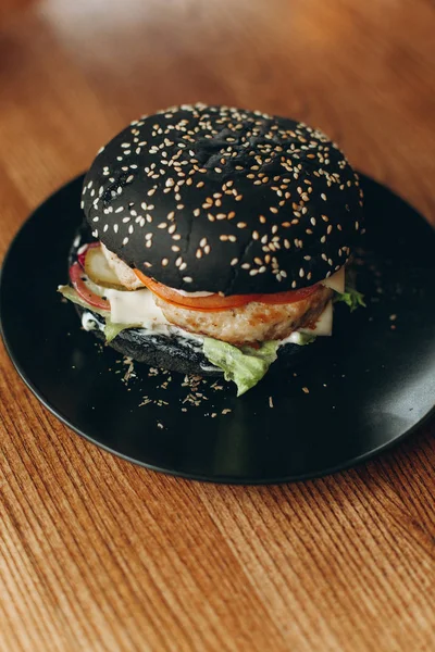
MULTIPOLYGON (((0 33, 0 255, 127 121, 196 100, 320 126, 435 222, 434 23, 430 0, 34 4, 0 33)), ((435 649, 434 423, 334 477, 201 485, 0 367, 2 651, 435 649)))

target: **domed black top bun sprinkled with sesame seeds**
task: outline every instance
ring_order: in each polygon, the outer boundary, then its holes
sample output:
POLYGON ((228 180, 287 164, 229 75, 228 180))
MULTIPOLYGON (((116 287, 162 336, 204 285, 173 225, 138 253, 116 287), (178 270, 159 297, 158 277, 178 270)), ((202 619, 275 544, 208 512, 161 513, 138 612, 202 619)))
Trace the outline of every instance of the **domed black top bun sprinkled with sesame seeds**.
POLYGON ((82 206, 111 251, 175 289, 245 294, 313 285, 362 228, 357 174, 303 123, 228 106, 174 106, 102 148, 82 206))

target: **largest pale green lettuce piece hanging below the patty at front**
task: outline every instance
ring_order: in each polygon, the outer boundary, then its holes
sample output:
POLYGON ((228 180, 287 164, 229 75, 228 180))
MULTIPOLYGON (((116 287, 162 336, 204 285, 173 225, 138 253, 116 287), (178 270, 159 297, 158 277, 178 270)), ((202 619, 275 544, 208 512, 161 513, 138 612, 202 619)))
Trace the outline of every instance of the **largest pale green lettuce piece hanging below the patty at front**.
POLYGON ((225 380, 233 380, 237 385, 237 396, 251 389, 261 380, 271 364, 276 360, 279 342, 263 342, 259 349, 243 347, 238 349, 204 337, 203 352, 206 358, 224 372, 225 380))

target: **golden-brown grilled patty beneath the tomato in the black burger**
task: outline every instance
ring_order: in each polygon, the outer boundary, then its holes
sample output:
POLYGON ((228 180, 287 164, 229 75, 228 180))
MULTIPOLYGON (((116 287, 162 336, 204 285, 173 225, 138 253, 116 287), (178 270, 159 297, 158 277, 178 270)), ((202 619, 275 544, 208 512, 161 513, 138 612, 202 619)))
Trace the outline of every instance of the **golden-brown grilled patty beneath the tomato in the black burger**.
POLYGON ((179 308, 158 297, 156 303, 175 326, 243 346, 284 339, 294 330, 314 324, 332 296, 333 290, 320 285, 307 299, 295 303, 251 301, 240 308, 219 312, 179 308))

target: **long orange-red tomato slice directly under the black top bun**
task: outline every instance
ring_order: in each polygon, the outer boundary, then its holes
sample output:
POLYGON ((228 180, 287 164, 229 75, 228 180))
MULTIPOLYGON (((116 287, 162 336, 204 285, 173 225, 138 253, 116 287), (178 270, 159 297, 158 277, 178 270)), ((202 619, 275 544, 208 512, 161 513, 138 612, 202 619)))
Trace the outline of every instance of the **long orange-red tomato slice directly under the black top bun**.
POLYGON ((172 303, 179 305, 181 308, 188 308, 190 310, 198 310, 202 312, 219 312, 223 310, 231 310, 232 308, 239 308, 246 305, 251 301, 259 301, 260 303, 279 304, 279 303, 295 303, 306 299, 319 287, 319 284, 302 288, 300 290, 289 290, 286 292, 274 292, 273 294, 231 294, 229 297, 221 297, 221 294, 210 294, 208 297, 185 297, 176 290, 169 288, 167 286, 146 276, 139 269, 134 271, 136 276, 140 278, 144 285, 151 290, 157 297, 172 303))

